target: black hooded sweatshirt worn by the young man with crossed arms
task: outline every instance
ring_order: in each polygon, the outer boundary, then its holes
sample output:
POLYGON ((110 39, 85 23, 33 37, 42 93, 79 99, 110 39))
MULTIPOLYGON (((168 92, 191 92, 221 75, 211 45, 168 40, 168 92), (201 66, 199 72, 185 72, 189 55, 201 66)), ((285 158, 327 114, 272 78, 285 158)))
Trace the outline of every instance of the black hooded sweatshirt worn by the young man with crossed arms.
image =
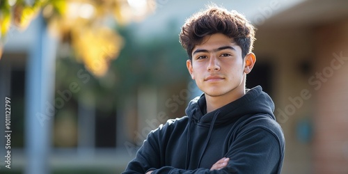
POLYGON ((260 86, 209 113, 203 94, 150 132, 124 173, 280 173, 285 139, 273 111, 260 86), (223 157, 228 166, 210 171, 223 157))

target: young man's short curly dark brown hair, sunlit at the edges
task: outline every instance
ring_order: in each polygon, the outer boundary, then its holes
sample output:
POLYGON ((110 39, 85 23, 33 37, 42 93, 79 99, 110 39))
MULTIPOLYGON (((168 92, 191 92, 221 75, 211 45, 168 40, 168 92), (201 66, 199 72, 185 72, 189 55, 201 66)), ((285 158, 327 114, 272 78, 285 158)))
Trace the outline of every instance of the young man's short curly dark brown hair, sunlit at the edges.
POLYGON ((200 45, 206 35, 214 33, 223 33, 237 43, 243 58, 253 49, 255 27, 237 11, 214 5, 187 19, 180 32, 180 43, 192 59, 193 48, 200 45))

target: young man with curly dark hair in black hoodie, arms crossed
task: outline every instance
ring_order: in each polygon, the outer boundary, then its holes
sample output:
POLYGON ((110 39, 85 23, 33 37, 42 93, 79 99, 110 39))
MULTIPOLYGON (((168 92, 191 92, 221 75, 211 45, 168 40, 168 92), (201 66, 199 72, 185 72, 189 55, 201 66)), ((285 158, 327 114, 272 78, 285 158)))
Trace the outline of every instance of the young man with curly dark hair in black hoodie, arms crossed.
POLYGON ((150 132, 124 173, 280 173, 285 150, 274 103, 257 86, 245 89, 255 64, 254 27, 216 6, 182 26, 187 69, 204 92, 187 116, 150 132))

